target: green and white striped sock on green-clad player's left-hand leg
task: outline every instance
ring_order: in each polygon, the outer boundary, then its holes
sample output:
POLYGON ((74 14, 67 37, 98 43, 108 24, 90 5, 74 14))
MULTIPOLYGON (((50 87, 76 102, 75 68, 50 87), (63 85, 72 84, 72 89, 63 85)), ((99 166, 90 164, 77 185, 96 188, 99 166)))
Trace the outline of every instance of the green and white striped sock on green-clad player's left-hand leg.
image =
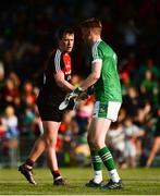
POLYGON ((91 161, 94 167, 94 182, 99 184, 102 181, 102 161, 98 151, 91 151, 91 161))

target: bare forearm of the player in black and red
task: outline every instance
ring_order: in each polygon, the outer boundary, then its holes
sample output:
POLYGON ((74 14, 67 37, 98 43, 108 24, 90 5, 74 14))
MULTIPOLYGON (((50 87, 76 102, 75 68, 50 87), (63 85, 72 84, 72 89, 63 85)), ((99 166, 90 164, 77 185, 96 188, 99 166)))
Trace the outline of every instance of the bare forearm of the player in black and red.
POLYGON ((59 70, 54 73, 54 79, 60 88, 63 88, 66 93, 71 93, 75 87, 64 78, 64 73, 59 70))

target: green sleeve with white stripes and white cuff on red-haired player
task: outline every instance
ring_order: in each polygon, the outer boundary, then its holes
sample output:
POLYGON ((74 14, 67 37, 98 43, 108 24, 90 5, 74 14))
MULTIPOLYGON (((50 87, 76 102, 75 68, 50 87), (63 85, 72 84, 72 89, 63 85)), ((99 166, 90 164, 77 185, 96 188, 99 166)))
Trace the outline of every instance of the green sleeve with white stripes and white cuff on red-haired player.
POLYGON ((100 49, 100 47, 98 47, 97 44, 95 44, 91 48, 91 63, 95 62, 102 62, 103 59, 103 53, 102 50, 100 49))

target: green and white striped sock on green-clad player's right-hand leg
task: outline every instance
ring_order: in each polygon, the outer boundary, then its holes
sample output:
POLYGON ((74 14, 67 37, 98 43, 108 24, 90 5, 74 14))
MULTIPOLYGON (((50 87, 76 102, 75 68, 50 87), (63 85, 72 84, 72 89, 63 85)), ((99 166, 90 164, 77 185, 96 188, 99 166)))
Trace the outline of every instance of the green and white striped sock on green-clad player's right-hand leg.
POLYGON ((108 147, 106 146, 106 147, 101 148, 100 150, 98 150, 98 155, 101 158, 106 168, 108 169, 111 180, 113 182, 119 182, 120 176, 118 174, 118 171, 116 171, 115 164, 114 164, 114 160, 113 160, 112 155, 111 155, 110 150, 108 149, 108 147))

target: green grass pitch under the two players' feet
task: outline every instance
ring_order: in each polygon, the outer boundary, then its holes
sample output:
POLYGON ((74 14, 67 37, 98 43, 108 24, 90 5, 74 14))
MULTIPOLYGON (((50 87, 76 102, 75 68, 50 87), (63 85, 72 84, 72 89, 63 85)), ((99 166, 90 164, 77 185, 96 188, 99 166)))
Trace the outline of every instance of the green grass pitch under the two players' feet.
MULTIPOLYGON (((37 185, 30 185, 17 170, 0 169, 0 195, 160 195, 160 169, 119 170, 124 189, 100 191, 85 187, 91 179, 90 168, 61 169, 70 182, 67 187, 52 185, 48 169, 35 169, 37 185)), ((103 172, 107 181, 107 173, 103 172)))

